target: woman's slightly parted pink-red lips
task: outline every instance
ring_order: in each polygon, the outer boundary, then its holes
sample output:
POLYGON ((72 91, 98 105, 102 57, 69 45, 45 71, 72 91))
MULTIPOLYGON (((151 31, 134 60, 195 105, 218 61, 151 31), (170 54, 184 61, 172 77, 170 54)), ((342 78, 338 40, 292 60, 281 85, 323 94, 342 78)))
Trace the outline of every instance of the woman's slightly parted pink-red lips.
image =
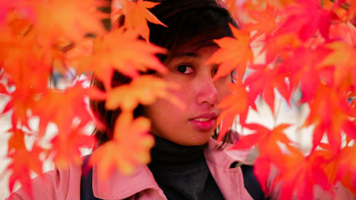
POLYGON ((204 113, 189 119, 193 127, 199 131, 208 131, 215 128, 216 117, 218 114, 216 112, 204 113))

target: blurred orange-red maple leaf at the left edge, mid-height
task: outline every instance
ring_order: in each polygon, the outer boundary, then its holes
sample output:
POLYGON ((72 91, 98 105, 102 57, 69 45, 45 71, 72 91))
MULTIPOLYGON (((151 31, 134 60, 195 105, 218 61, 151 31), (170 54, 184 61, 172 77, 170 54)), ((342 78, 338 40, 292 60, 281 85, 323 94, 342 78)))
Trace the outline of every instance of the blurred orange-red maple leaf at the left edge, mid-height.
POLYGON ((11 122, 14 129, 18 123, 28 127, 28 111, 36 104, 36 95, 46 90, 49 70, 50 66, 37 60, 32 53, 24 53, 22 59, 13 57, 6 60, 4 73, 9 80, 9 87, 16 89, 9 93, 11 99, 2 113, 12 110, 11 122))

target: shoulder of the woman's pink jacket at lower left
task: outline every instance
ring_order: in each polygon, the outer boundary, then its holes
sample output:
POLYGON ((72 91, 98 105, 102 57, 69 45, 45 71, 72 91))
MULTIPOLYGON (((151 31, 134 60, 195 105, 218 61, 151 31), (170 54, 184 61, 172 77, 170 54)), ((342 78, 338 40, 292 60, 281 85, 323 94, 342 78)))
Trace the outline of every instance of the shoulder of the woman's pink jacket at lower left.
MULTIPOLYGON (((33 199, 59 200, 80 199, 80 166, 70 164, 67 169, 53 169, 31 180, 33 199)), ((8 200, 30 200, 23 188, 12 193, 8 200)))

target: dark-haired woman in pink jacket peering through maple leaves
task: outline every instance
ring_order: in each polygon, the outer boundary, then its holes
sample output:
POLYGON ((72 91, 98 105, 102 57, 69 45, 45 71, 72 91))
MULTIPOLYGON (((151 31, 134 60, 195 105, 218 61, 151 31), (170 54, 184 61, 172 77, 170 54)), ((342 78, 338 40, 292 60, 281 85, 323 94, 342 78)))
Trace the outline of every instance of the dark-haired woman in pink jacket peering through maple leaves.
MULTIPOLYGON (((46 174, 49 184, 35 179, 35 199, 264 199, 251 168, 245 167, 243 174, 238 167, 243 158, 217 148, 211 139, 216 136, 220 112, 216 105, 229 94, 226 84, 232 78, 226 75, 213 81, 218 65, 207 65, 206 60, 218 48, 212 40, 232 36, 229 23, 237 26, 236 22, 214 0, 166 0, 150 11, 167 25, 150 23, 150 42, 169 50, 168 55, 159 55, 168 73, 150 74, 180 86, 170 92, 186 105, 185 110, 162 99, 137 107, 136 117, 144 115, 151 120, 155 147, 152 162, 138 167, 130 177, 115 172, 105 188, 95 167, 85 175, 82 169, 70 167, 66 172, 46 174), (38 185, 41 189, 36 189, 38 185)), ((130 78, 115 73, 113 85, 126 83, 130 78)), ((100 82, 94 84, 100 87, 100 82)), ((113 130, 120 110, 105 110, 104 102, 91 105, 113 130)), ((110 135, 99 130, 95 136, 100 144, 110 140, 110 135)), ((226 137, 225 142, 231 138, 226 137)), ((21 190, 11 197, 27 198, 21 190)))

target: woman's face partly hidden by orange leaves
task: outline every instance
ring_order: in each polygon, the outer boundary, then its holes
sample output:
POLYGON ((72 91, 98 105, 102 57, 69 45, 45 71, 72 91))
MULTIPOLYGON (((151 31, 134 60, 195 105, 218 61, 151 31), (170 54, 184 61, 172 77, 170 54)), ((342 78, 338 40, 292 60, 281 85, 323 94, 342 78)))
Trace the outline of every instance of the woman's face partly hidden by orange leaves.
POLYGON ((169 72, 162 79, 179 85, 179 89, 169 92, 179 98, 185 108, 182 110, 164 99, 145 107, 154 135, 186 146, 208 142, 220 112, 216 105, 229 94, 226 83, 231 83, 230 75, 212 80, 218 65, 206 65, 206 60, 216 50, 216 47, 204 47, 179 52, 165 62, 169 72))

